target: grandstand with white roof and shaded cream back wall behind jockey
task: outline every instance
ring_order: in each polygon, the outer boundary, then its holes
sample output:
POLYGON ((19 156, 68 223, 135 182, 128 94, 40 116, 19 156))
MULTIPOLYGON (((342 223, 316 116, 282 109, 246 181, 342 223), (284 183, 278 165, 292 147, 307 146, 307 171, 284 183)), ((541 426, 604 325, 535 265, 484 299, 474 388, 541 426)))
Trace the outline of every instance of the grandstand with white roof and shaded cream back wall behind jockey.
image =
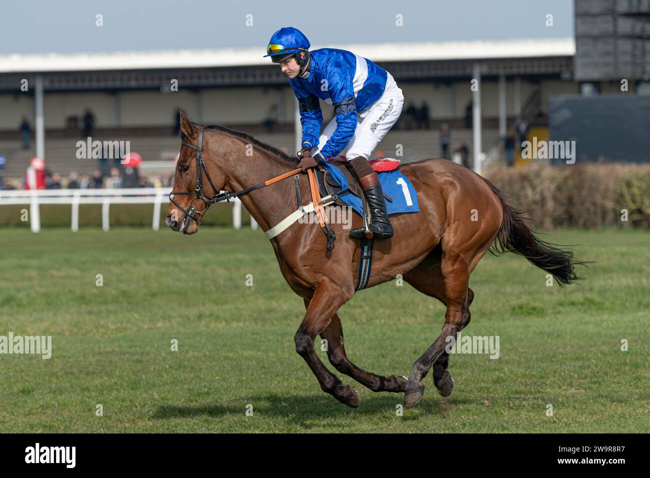
MULTIPOLYGON (((447 122, 450 146, 462 142, 476 163, 519 118, 547 128, 549 97, 579 90, 573 81, 573 38, 330 47, 354 51, 391 72, 404 92, 402 116, 411 103, 428 105, 428 125, 412 129, 400 120, 376 150, 391 156, 402 144, 405 162, 440 156, 440 126, 447 122), (480 96, 470 89, 476 77, 480 96), (468 127, 472 120, 478 127, 468 127)), ((75 156, 86 109, 94 114, 94 140, 129 140, 145 166, 170 161, 178 151, 173 134, 178 108, 201 124, 239 129, 294 152, 300 140, 297 101, 286 77, 263 54, 263 48, 246 48, 0 57, 5 179, 18 181, 29 159, 40 155, 62 176, 97 168, 96 159, 75 156), (27 91, 21 90, 23 80, 27 91), (178 91, 170 91, 173 80, 178 91), (35 127, 27 149, 21 148, 23 117, 35 127), (265 120, 272 121, 270 131, 265 120)), ((325 125, 332 109, 322 103, 322 111, 325 125)))

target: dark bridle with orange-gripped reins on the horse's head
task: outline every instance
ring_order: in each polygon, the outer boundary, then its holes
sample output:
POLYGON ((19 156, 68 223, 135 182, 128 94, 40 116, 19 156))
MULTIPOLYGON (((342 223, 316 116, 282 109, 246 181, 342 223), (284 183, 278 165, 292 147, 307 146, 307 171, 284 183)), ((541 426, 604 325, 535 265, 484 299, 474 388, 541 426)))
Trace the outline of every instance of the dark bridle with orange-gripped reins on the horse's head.
MULTIPOLYGON (((191 220, 194 220, 196 224, 201 225, 203 224, 200 220, 196 219, 194 217, 195 214, 202 214, 205 213, 208 209, 210 209, 214 204, 222 201, 227 201, 230 202, 230 198, 234 198, 239 196, 240 194, 246 194, 250 193, 251 191, 255 191, 255 189, 259 189, 261 187, 268 186, 276 181, 279 181, 280 179, 288 178, 292 174, 297 174, 300 172, 300 168, 296 170, 289 171, 285 174, 281 174, 280 176, 277 176, 276 178, 269 179, 268 181, 265 181, 264 183, 252 186, 252 187, 247 187, 246 189, 242 189, 241 191, 237 191, 236 193, 229 193, 228 191, 224 191, 223 193, 218 193, 216 196, 210 197, 206 196, 203 193, 203 171, 205 171, 205 177, 207 178, 208 182, 210 183, 213 191, 216 193, 217 189, 214 187, 214 183, 212 181, 212 178, 210 177, 210 173, 207 171, 207 166, 205 166, 205 160, 203 159, 203 126, 199 127, 199 137, 198 137, 198 142, 196 143, 197 146, 194 146, 194 144, 189 144, 181 139, 181 144, 183 146, 187 146, 191 150, 196 151, 196 183, 194 185, 194 192, 184 192, 184 193, 174 193, 172 191, 169 193, 169 200, 174 204, 174 206, 178 207, 183 213, 185 213, 185 217, 188 217, 191 220), (175 195, 183 195, 183 194, 196 194, 196 197, 192 198, 192 201, 190 202, 190 210, 186 211, 181 207, 180 204, 175 202, 174 197, 175 195), (196 200, 201 200, 203 201, 203 209, 199 211, 194 207, 194 201, 196 200)), ((179 160, 180 160, 180 155, 179 155, 179 160)), ((183 232, 187 231, 187 227, 190 225, 190 220, 185 220, 185 225, 183 226, 183 232)))

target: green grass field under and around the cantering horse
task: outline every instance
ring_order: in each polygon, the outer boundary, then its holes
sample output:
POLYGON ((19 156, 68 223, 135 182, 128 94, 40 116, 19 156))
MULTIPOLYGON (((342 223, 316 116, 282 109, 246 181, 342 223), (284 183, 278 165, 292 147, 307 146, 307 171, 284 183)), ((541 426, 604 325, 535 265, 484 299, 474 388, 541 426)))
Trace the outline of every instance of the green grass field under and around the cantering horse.
MULTIPOLYGON (((596 261, 587 280, 547 287, 525 259, 486 256, 463 334, 499 336, 499 359, 452 355, 454 393, 440 397, 430 374, 397 416, 401 394, 339 373, 361 406, 321 392, 294 350, 302 299, 259 230, 1 229, 0 335, 52 336, 53 353, 0 355, 0 432, 650 431, 650 233, 550 239, 596 261)), ((444 308, 392 282, 340 315, 353 362, 408 376, 444 308)))

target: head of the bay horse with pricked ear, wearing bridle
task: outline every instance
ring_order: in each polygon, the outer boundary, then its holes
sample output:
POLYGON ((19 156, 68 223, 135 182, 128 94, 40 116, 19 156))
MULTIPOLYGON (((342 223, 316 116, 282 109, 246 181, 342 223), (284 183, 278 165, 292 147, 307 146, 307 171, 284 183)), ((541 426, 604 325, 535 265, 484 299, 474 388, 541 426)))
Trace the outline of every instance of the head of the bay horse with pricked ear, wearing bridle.
POLYGON ((181 111, 181 150, 165 224, 174 231, 194 234, 211 200, 226 185, 217 157, 205 147, 205 132, 181 111))

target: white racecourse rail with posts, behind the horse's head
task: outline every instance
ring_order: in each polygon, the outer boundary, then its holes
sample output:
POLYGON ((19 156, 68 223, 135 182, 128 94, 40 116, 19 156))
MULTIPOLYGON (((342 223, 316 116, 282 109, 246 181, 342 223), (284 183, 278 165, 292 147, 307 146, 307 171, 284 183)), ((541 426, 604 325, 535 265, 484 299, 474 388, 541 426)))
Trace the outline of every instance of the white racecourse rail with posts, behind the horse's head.
MULTIPOLYGON (((161 204, 169 203, 172 189, 159 187, 138 187, 132 189, 38 189, 36 191, 2 191, 0 206, 29 204, 29 222, 32 232, 40 231, 41 204, 70 204, 72 206, 72 230, 79 229, 79 204, 101 204, 101 228, 109 230, 111 204, 153 204, 153 230, 160 229, 161 204)), ((233 203, 233 226, 242 226, 242 203, 239 198, 233 203)), ((250 226, 257 229, 257 222, 251 217, 250 226)))

